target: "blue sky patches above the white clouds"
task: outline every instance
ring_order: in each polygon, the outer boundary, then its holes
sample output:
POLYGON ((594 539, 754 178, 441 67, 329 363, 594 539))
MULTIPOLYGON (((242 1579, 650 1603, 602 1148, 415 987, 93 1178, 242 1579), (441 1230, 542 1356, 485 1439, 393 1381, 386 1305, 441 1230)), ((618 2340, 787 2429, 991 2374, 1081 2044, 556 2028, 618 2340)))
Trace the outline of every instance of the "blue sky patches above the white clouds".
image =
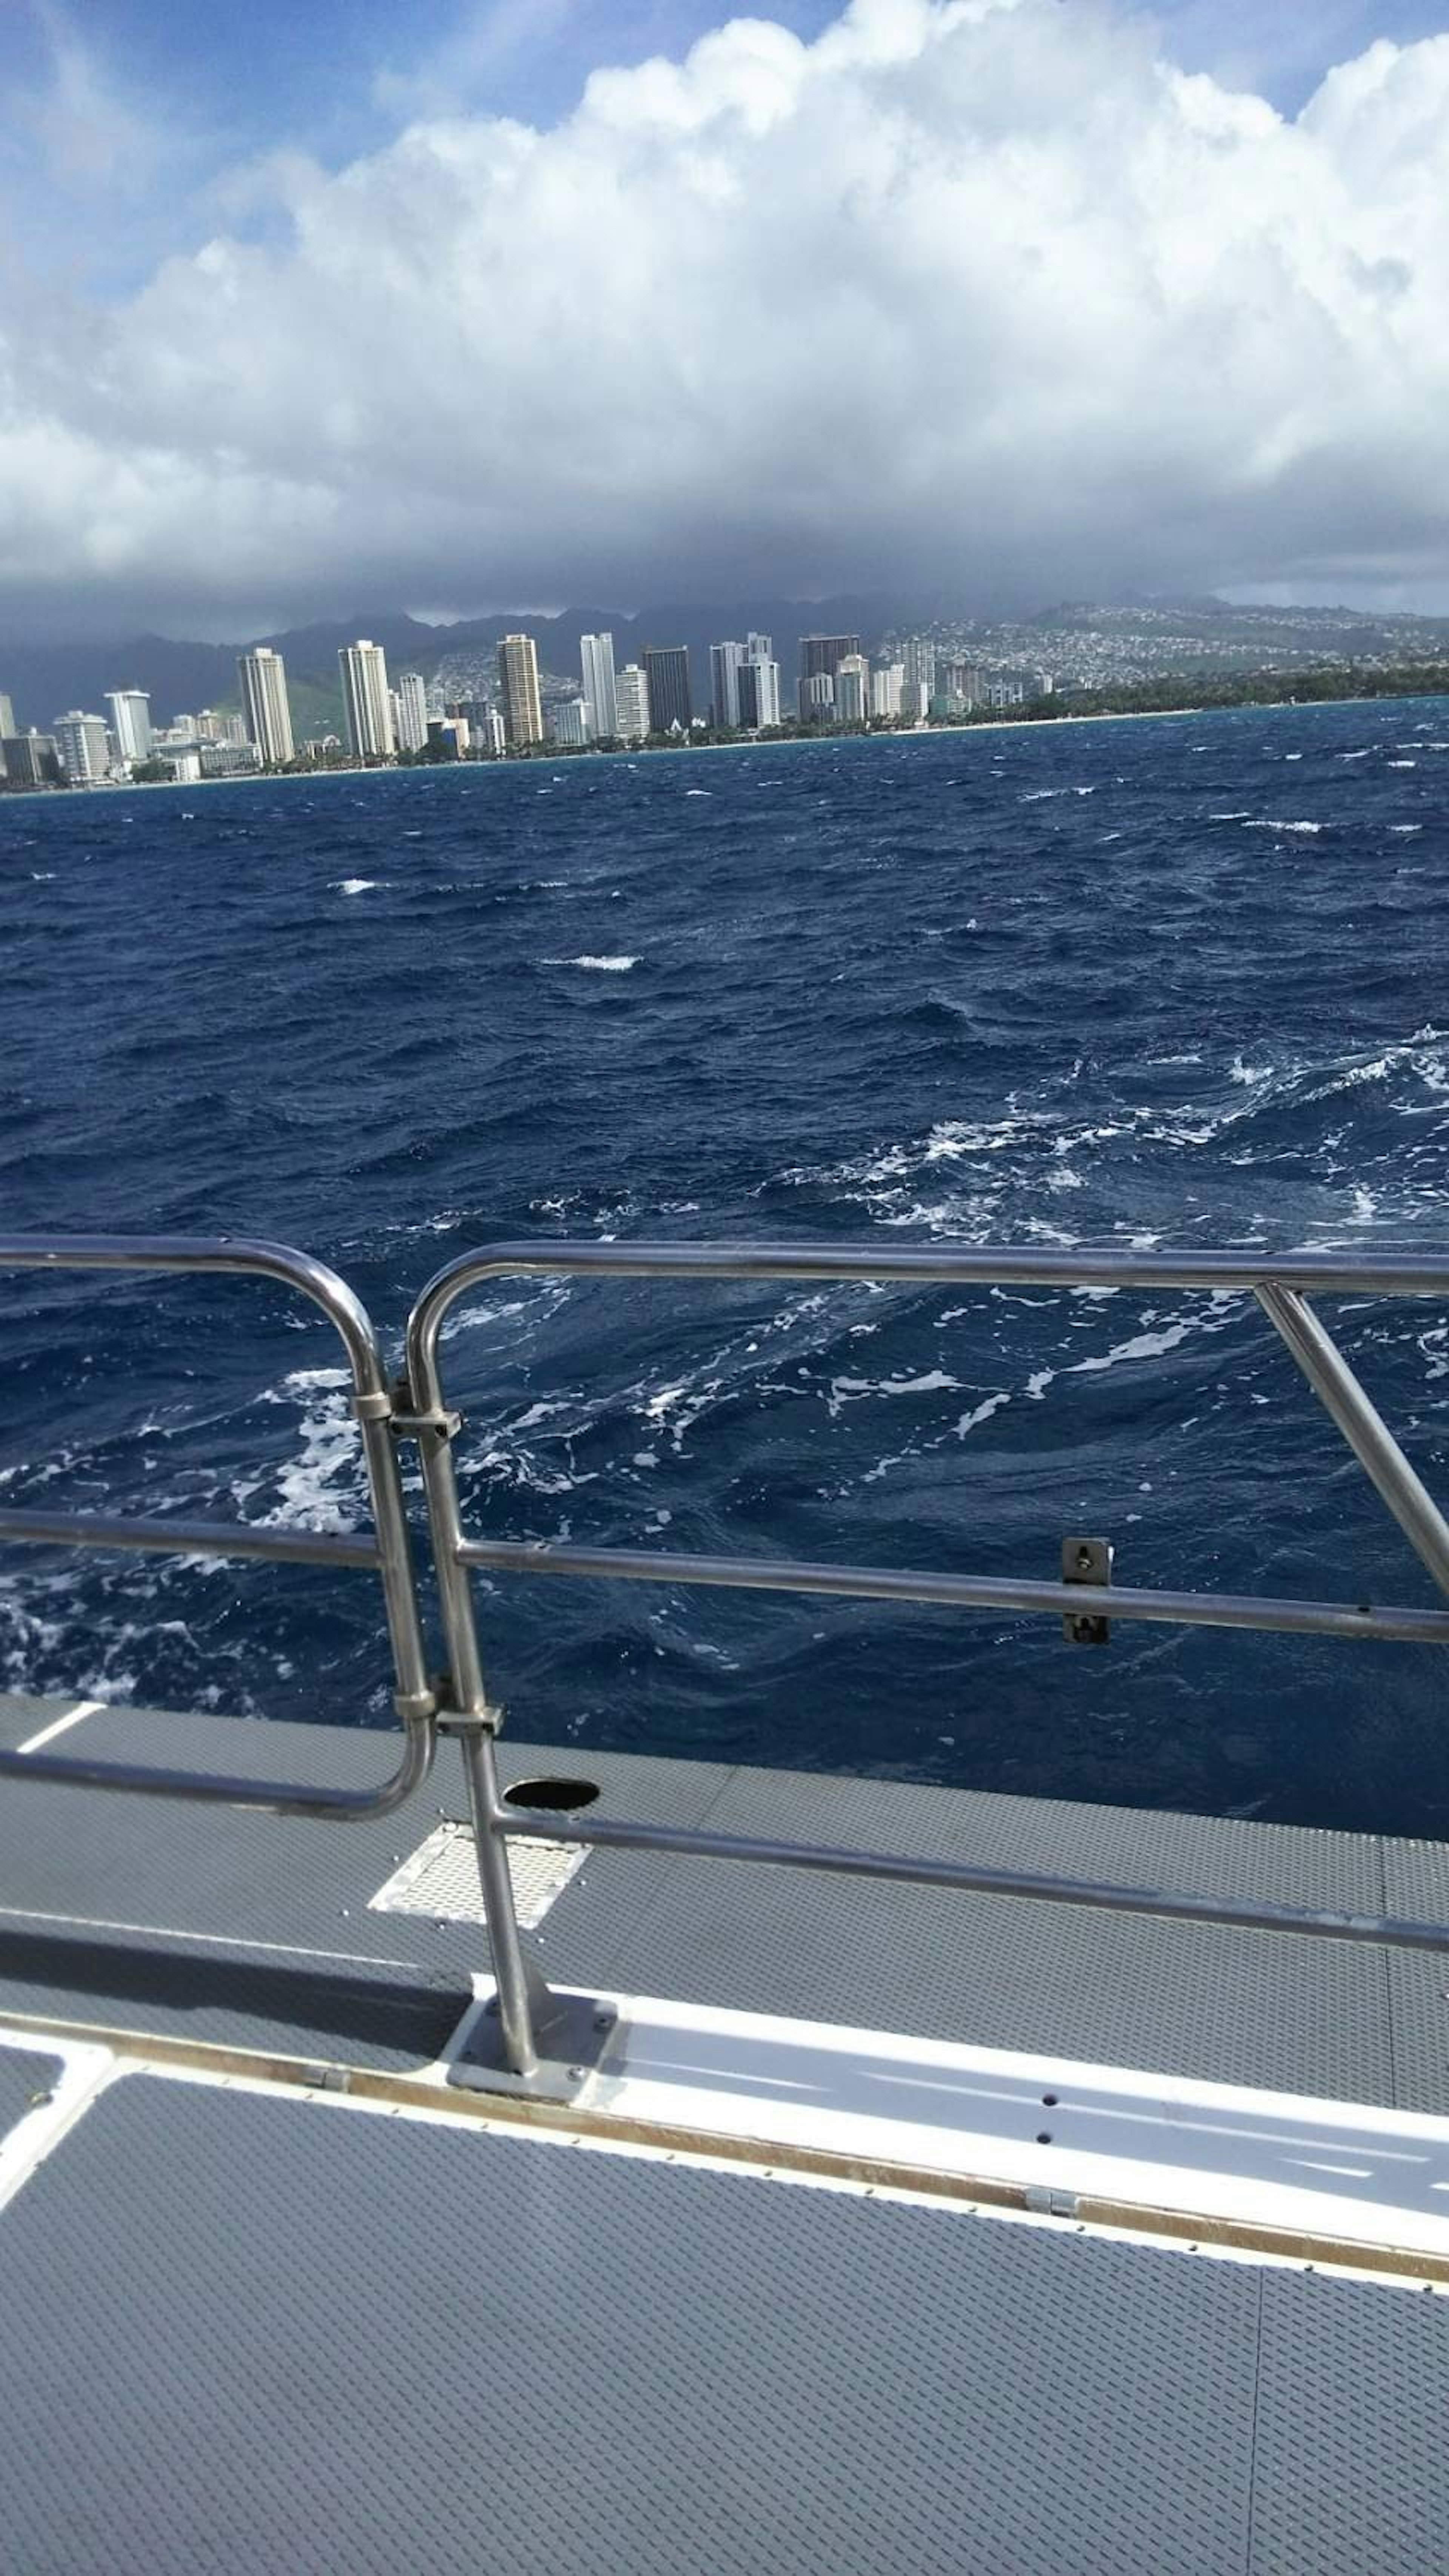
MULTIPOLYGON (((1076 0, 1060 0, 1071 13, 1076 0)), ((1086 8, 1089 0, 1081 0, 1086 8)), ((1449 0, 1158 0, 1186 70, 1295 113, 1333 62, 1449 26, 1449 0)), ((734 15, 721 0, 0 0, 8 201, 44 196, 39 265, 129 291, 219 222, 252 229, 247 173, 275 152, 327 170, 409 116, 556 124, 597 64, 682 54, 734 15)), ((813 36, 839 0, 757 0, 813 36)))

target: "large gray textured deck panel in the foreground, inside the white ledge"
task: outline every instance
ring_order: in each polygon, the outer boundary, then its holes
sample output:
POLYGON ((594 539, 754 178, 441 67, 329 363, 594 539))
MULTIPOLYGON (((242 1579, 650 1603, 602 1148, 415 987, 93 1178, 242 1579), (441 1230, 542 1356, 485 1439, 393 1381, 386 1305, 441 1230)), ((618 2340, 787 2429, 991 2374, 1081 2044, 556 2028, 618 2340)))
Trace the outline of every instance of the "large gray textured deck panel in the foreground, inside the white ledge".
POLYGON ((1444 2566, 1403 2290, 124 2076, 0 2308, 8 2576, 1444 2566))

